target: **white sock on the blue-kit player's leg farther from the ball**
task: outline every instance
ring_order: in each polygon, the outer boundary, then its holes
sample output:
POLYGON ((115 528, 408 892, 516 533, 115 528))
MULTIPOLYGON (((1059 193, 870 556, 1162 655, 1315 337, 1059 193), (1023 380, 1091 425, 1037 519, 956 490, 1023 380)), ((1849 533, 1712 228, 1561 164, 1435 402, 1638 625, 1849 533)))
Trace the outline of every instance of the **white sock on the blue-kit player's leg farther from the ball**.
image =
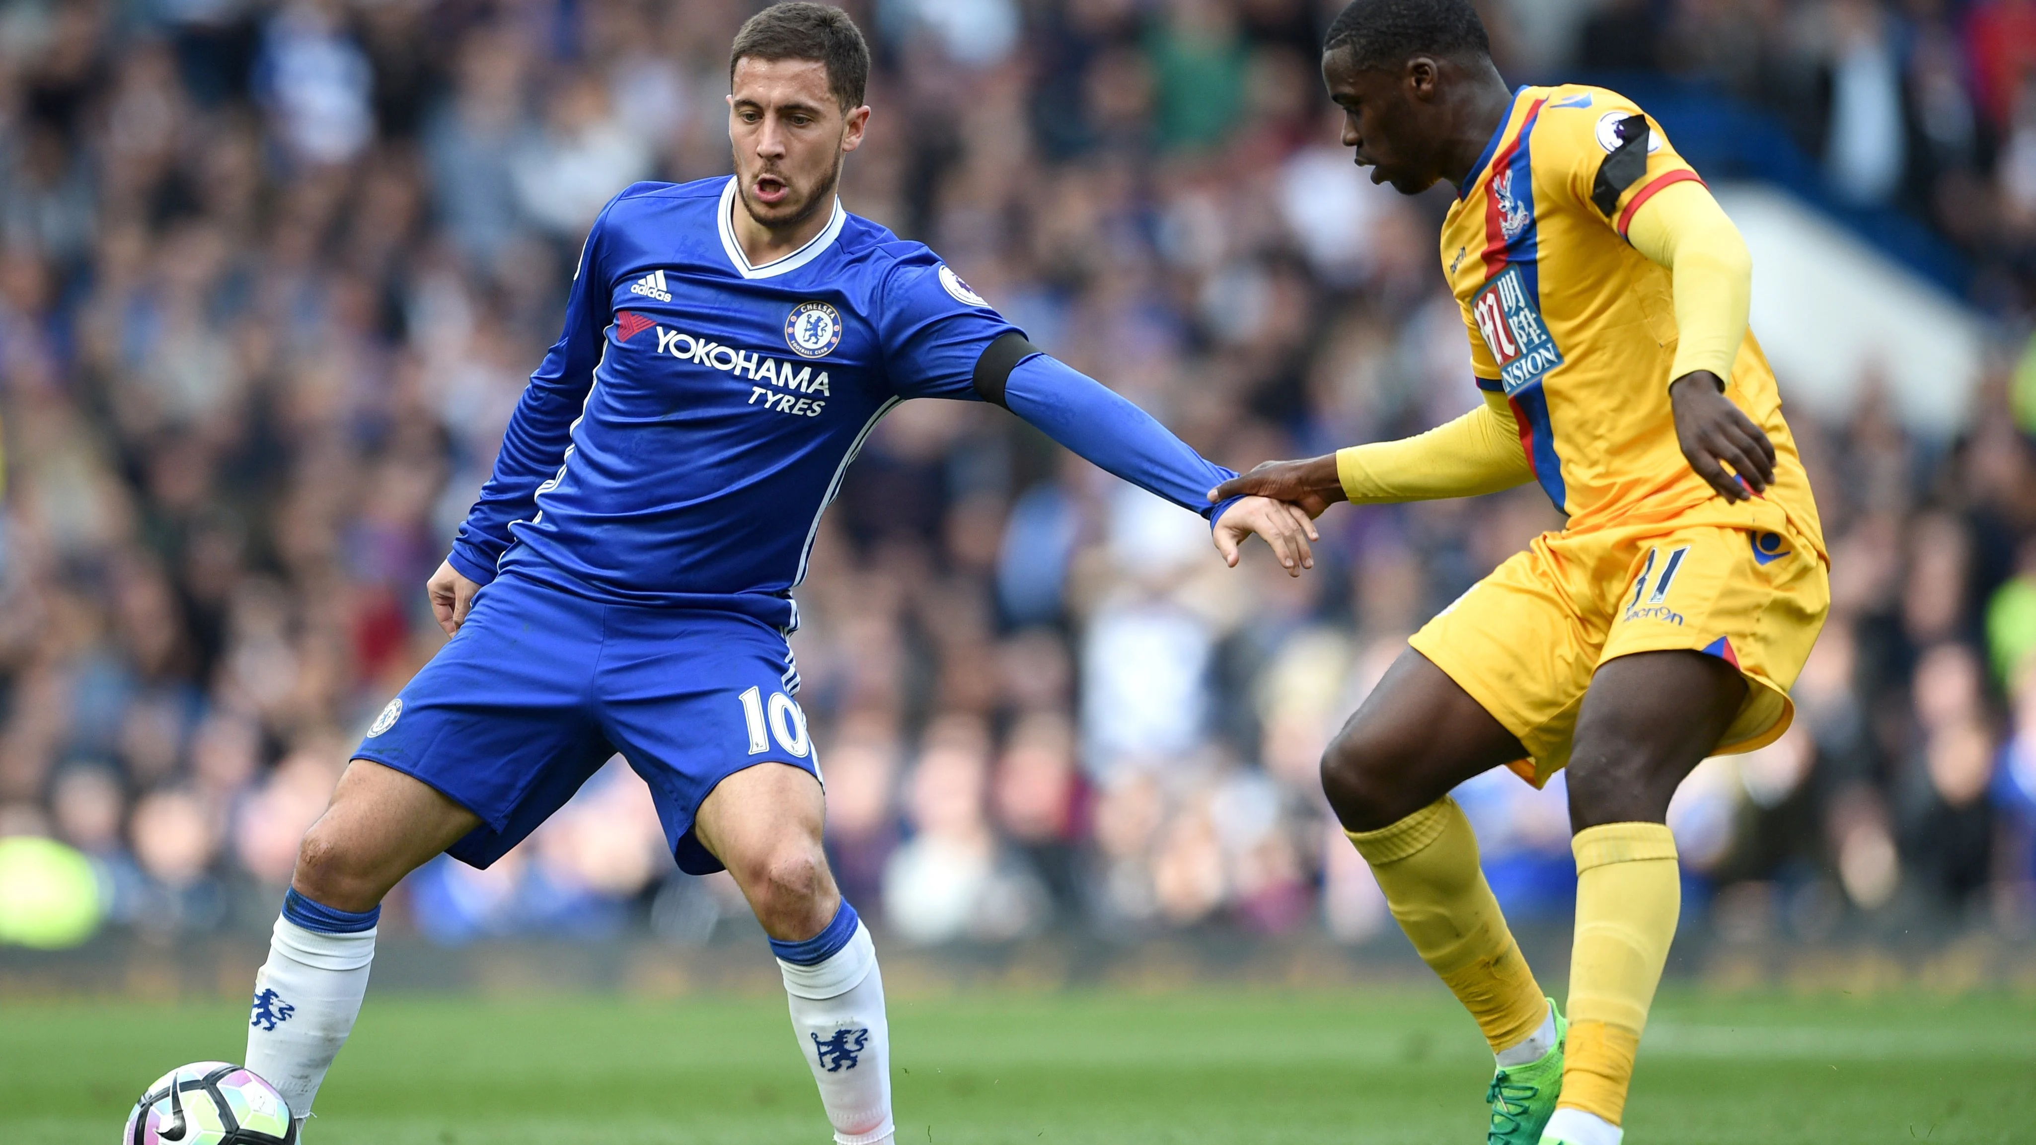
MULTIPOLYGON (((849 915, 855 917, 853 913, 849 915)), ((772 944, 790 946, 790 944, 772 944)), ((821 1086, 821 1104, 841 1145, 892 1139, 890 1023, 884 1021, 884 974, 869 927, 808 966, 778 960, 792 999, 792 1029, 821 1086)))

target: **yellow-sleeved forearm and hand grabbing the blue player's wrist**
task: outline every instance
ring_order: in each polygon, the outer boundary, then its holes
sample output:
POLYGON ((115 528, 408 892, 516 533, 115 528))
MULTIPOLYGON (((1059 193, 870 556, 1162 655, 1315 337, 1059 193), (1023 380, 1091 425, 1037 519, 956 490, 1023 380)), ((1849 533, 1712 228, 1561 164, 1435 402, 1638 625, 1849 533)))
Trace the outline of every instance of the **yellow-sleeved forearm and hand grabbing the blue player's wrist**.
POLYGON ((1464 417, 1399 441, 1352 445, 1305 462, 1264 462, 1207 492, 1209 500, 1270 496, 1319 517, 1336 500, 1384 504, 1498 492, 1533 480, 1498 395, 1464 417))

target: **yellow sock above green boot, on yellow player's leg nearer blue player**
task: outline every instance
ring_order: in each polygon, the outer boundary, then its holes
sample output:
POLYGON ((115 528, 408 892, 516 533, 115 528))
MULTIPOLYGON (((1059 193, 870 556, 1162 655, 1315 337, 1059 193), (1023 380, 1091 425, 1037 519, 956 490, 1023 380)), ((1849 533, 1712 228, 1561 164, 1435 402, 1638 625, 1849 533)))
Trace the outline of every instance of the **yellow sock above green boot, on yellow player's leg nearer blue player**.
POLYGON ((1441 976, 1492 1051, 1519 1045, 1547 1017, 1547 999, 1498 913, 1478 866, 1478 836, 1456 799, 1376 832, 1350 832, 1421 960, 1441 976))

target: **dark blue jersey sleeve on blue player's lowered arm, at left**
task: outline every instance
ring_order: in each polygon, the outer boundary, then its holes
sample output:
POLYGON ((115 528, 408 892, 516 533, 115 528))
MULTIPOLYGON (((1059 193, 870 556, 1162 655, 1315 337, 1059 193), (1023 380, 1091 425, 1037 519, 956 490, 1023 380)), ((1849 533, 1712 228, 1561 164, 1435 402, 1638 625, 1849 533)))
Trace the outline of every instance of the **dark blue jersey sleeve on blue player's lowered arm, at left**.
POLYGON ((466 510, 460 535, 452 541, 448 559, 468 580, 495 580, 495 563, 511 543, 509 525, 535 515, 538 492, 566 464, 572 423, 586 407, 605 332, 615 317, 609 313, 609 281, 601 273, 601 232, 609 209, 613 203, 603 207, 580 248, 580 266, 566 295, 566 329, 523 386, 495 456, 495 472, 480 486, 480 500, 466 510))

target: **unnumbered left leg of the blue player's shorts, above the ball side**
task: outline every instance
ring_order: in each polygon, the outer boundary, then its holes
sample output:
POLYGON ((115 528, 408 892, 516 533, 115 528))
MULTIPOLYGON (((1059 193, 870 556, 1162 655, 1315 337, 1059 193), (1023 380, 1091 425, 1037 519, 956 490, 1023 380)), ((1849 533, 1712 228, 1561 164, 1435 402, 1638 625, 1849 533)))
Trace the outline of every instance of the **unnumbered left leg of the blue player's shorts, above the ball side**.
POLYGON ((588 702, 601 655, 601 604, 497 580, 354 757, 470 811, 472 830, 446 850, 489 866, 615 755, 588 702))

